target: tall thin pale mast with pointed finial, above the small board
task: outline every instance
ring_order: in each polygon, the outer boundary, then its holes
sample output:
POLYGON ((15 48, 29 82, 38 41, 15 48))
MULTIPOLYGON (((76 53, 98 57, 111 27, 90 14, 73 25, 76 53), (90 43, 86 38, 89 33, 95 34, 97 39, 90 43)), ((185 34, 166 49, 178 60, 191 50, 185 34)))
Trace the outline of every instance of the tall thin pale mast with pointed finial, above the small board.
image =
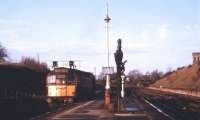
POLYGON ((106 23, 106 39, 107 39, 107 64, 110 67, 110 48, 109 48, 109 22, 111 18, 109 17, 108 13, 108 1, 106 2, 106 18, 104 19, 106 23))

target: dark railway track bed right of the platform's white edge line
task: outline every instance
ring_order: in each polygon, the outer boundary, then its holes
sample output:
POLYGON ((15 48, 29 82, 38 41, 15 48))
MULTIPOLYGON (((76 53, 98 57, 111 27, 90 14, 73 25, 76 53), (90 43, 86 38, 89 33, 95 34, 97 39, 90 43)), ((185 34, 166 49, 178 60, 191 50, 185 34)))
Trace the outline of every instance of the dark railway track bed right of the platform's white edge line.
POLYGON ((199 120, 200 118, 199 99, 154 91, 142 91, 141 95, 147 104, 169 120, 199 120))

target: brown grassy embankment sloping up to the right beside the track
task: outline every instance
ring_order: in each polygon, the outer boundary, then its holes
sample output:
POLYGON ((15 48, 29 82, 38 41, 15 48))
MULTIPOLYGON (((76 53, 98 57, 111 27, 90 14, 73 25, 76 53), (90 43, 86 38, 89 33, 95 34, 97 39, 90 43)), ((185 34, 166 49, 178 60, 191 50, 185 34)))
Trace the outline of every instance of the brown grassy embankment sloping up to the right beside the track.
POLYGON ((200 65, 193 64, 177 69, 170 75, 150 85, 150 87, 199 91, 200 65))

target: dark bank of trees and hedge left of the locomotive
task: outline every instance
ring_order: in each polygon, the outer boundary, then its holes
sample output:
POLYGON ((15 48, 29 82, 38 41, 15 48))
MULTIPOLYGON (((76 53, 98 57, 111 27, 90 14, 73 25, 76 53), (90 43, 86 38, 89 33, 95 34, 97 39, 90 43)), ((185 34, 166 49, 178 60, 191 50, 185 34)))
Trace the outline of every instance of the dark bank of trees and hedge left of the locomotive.
POLYGON ((17 63, 9 61, 5 47, 0 44, 0 96, 25 97, 46 94, 46 63, 22 57, 17 63))

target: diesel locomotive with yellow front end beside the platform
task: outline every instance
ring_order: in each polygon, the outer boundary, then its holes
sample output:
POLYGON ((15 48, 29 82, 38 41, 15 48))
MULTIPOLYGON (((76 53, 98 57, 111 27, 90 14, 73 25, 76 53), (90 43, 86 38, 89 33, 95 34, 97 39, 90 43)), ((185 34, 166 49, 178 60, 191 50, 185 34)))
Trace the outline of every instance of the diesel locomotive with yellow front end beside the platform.
POLYGON ((74 67, 54 67, 47 75, 48 102, 90 99, 95 95, 92 73, 74 67))

